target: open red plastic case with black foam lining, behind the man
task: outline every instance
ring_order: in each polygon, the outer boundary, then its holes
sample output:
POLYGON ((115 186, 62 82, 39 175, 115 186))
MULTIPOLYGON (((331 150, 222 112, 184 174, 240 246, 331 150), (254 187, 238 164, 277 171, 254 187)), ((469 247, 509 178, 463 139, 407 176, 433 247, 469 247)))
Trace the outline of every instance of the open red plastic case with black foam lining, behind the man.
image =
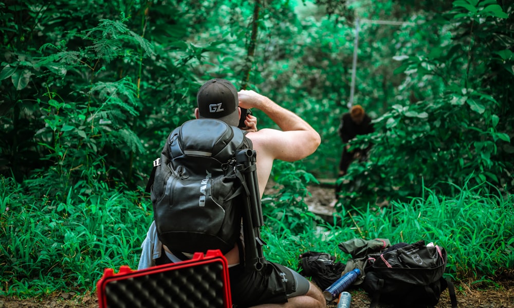
POLYGON ((99 308, 232 307, 227 259, 219 250, 141 271, 106 268, 97 293, 99 308))

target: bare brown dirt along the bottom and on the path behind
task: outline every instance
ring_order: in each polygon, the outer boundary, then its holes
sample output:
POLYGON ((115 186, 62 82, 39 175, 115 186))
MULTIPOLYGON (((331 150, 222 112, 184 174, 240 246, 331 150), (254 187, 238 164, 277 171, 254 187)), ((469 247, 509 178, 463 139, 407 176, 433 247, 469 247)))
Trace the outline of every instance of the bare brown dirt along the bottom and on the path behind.
MULTIPOLYGON (((329 186, 316 185, 309 187, 312 197, 306 198, 309 209, 320 215, 330 215, 333 208, 330 203, 334 198, 334 190, 329 186)), ((494 281, 492 288, 478 288, 472 281, 455 283, 457 306, 460 308, 514 308, 514 269, 510 273, 494 281)), ((360 290, 352 290, 351 308, 368 308, 369 296, 360 290)), ((0 308, 98 308, 96 294, 77 295, 74 292, 54 294, 43 299, 16 299, 0 296, 0 308)), ((328 308, 336 308, 336 303, 327 304, 328 308)), ((388 308, 381 306, 380 308, 388 308)), ((436 308, 451 308, 448 290, 443 292, 436 308)))

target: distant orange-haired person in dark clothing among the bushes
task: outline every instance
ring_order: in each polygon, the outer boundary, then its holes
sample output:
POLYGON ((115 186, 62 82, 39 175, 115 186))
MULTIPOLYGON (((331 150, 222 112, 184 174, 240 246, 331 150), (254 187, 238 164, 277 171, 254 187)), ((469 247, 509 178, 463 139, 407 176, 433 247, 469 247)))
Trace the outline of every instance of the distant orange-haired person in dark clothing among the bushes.
POLYGON ((354 159, 359 158, 360 160, 365 160, 368 157, 369 147, 350 151, 348 142, 357 135, 368 134, 374 131, 375 129, 371 123, 371 118, 364 112, 362 106, 354 105, 350 112, 343 114, 341 124, 337 130, 339 137, 341 137, 344 143, 343 154, 339 163, 339 177, 346 174, 348 166, 350 166, 350 163, 352 163, 354 159))

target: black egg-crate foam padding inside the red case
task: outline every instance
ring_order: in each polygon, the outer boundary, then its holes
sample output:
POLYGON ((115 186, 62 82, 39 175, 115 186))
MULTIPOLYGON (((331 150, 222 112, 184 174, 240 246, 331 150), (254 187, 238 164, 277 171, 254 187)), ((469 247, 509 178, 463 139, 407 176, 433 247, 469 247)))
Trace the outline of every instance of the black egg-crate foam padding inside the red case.
POLYGON ((223 264, 211 262, 109 281, 108 308, 226 307, 223 264))

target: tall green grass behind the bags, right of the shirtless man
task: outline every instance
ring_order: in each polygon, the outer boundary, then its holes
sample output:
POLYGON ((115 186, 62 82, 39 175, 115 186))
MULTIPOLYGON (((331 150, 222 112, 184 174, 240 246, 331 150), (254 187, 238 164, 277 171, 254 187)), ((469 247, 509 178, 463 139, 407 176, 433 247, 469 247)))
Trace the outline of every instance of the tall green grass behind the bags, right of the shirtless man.
POLYGON ((408 203, 335 215, 337 223, 320 226, 316 232, 290 234, 282 221, 267 220, 274 228, 263 233, 267 257, 297 266, 298 255, 311 250, 345 262, 351 256, 337 245, 352 238, 387 238, 392 243, 425 240, 447 249, 447 272, 454 279, 494 277, 514 269, 514 196, 484 195, 483 185, 465 186, 451 198, 425 188, 423 197, 408 203))

